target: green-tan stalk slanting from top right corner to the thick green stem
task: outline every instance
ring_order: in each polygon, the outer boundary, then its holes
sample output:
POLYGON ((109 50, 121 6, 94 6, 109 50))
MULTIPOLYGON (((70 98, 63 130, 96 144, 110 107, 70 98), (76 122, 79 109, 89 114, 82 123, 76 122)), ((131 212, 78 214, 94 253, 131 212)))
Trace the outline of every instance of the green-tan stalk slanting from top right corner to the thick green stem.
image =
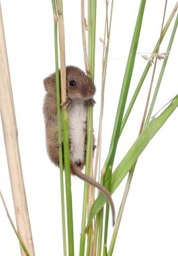
MULTIPOLYGON (((171 22, 174 18, 175 13, 177 12, 177 9, 178 9, 178 1, 176 3, 175 7, 173 8, 173 11, 171 12, 171 15, 169 16, 169 19, 167 20, 167 23, 165 24, 165 27, 163 29, 163 33, 162 33, 162 36, 161 36, 161 42, 163 41, 163 38, 165 37, 165 34, 166 34, 166 32, 167 32, 167 30, 168 30, 168 28, 169 28, 169 26, 170 26, 170 24, 171 24, 171 22)), ((152 54, 157 53, 158 44, 159 44, 159 40, 158 40, 156 46, 154 47, 154 50, 152 51, 152 54)), ((154 59, 154 57, 151 57, 150 61, 152 61, 152 59, 154 59)), ((134 102, 136 101, 136 98, 137 98, 137 96, 140 92, 140 89, 142 88, 142 84, 144 82, 144 79, 145 79, 145 77, 146 77, 146 75, 147 75, 147 73, 150 69, 150 66, 151 66, 150 61, 148 61, 148 63, 146 64, 144 72, 142 73, 142 77, 140 78, 140 81, 138 82, 138 86, 136 87, 134 95, 132 96, 132 100, 130 101, 130 104, 129 104, 127 110, 126 110, 126 114, 124 115, 124 118, 122 120, 120 135, 121 135, 121 133, 122 133, 122 131, 123 131, 125 125, 126 125, 126 122, 127 122, 128 117, 130 115, 130 112, 132 111, 132 107, 134 106, 134 102)))

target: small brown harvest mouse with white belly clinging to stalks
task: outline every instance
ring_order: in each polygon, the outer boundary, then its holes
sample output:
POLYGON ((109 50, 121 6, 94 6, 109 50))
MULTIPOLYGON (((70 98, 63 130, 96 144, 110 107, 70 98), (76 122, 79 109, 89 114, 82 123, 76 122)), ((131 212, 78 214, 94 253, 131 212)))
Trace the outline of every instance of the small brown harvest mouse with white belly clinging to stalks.
MULTIPOLYGON (((60 72, 60 70, 59 70, 60 72)), ((46 145, 50 160, 58 166, 58 125, 56 105, 56 73, 44 79, 46 96, 44 98, 44 120, 46 126, 46 145)), ((69 125, 69 150, 71 173, 97 187, 107 198, 112 209, 113 224, 115 222, 115 210, 112 197, 107 189, 83 174, 81 170, 85 165, 87 143, 87 109, 93 106, 95 100, 95 85, 78 67, 66 67, 66 100, 63 102, 67 110, 69 125)))

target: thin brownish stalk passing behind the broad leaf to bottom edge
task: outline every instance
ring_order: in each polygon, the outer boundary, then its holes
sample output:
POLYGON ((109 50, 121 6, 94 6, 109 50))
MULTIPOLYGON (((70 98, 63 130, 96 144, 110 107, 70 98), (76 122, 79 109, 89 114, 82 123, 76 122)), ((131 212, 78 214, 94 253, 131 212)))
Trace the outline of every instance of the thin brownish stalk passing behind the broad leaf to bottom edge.
MULTIPOLYGON (((163 13, 163 21, 162 21, 162 24, 161 24, 161 34, 160 34, 160 37, 159 37, 159 43, 158 43, 158 47, 157 47, 157 54, 159 53, 159 48, 160 48, 160 44, 161 44, 161 38, 162 38, 162 33, 163 33, 163 25, 164 25, 164 21, 165 21, 166 9, 167 9, 167 0, 165 0, 165 8, 164 8, 164 13, 163 13)), ((155 73, 155 70, 156 70, 156 66, 157 66, 157 57, 156 57, 156 60, 155 60, 155 63, 154 63, 154 69, 153 69, 153 72, 152 72, 152 79, 151 79, 151 82, 150 82, 150 89, 149 89, 149 92, 148 92, 148 98, 146 100, 146 107, 145 107, 145 110, 144 110, 144 115, 142 117, 142 123, 141 123, 141 126, 140 126, 140 131, 139 131, 138 136, 140 135, 140 133, 142 133, 142 130, 144 129, 144 122, 145 122, 145 118, 146 118, 146 112, 147 112, 147 108, 148 108, 148 102, 149 102, 149 99, 150 99, 150 92, 151 92, 151 89, 152 89, 152 83, 153 83, 153 79, 154 79, 154 73, 155 73)), ((126 187, 124 189, 124 195, 122 197, 120 210, 118 212, 117 223, 116 223, 116 226, 114 228, 112 241, 111 241, 110 247, 109 247, 108 255, 110 255, 110 256, 112 255, 112 253, 114 251, 114 245, 116 243, 116 237, 117 237, 117 234, 118 234, 118 229, 120 227, 122 214, 124 212, 124 207, 125 207, 125 204, 126 204, 126 199, 128 197, 129 190, 130 190, 130 184, 132 182, 132 177, 133 177, 135 168, 136 168, 136 163, 134 164, 134 166, 132 166, 132 168, 131 168, 131 170, 128 174, 128 180, 127 180, 127 183, 126 183, 126 187)))

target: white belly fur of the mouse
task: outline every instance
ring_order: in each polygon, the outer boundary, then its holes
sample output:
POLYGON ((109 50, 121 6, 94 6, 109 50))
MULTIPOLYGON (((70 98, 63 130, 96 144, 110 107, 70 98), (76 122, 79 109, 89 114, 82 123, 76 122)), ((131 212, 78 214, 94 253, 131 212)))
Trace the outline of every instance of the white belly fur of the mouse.
POLYGON ((85 162, 85 135, 87 131, 87 107, 82 101, 71 103, 68 112, 71 162, 85 162))

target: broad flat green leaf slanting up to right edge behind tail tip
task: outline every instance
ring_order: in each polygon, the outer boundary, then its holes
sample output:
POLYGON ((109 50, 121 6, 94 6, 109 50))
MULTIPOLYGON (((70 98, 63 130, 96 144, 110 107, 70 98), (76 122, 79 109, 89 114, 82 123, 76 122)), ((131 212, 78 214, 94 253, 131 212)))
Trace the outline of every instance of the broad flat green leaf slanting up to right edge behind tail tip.
MULTIPOLYGON (((126 174, 128 171, 132 168, 140 154, 142 154, 144 148, 148 145, 149 141, 154 137, 154 135, 161 129, 161 127, 164 125, 165 121, 170 117, 170 115, 173 113, 175 108, 178 106, 178 96, 175 96, 173 98, 171 104, 167 106, 167 108, 159 115, 159 117, 152 119, 148 125, 144 128, 138 139, 134 142, 133 146, 130 148, 126 156, 122 159, 114 173, 112 174, 112 189, 111 193, 114 193, 114 191, 117 189, 117 187, 120 185, 124 177, 126 177, 126 174)), ((107 185, 107 183, 106 183, 107 185)), ((95 217, 95 215, 101 210, 103 205, 105 204, 105 197, 103 195, 99 195, 95 202, 93 203, 93 206, 91 208, 91 212, 89 214, 89 220, 87 223, 87 227, 91 223, 91 220, 95 217)), ((86 228, 87 228, 86 227, 86 228)))

